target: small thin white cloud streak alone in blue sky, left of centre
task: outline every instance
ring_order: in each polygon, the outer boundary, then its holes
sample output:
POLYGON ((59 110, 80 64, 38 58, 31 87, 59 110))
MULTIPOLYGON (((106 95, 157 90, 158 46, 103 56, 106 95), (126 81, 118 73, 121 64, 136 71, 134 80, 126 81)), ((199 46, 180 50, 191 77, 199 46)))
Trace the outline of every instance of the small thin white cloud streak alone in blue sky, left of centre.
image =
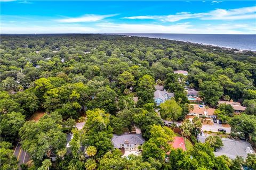
POLYGON ((117 14, 110 14, 110 15, 94 15, 94 14, 86 14, 83 16, 79 16, 77 18, 66 18, 66 19, 59 19, 55 20, 58 22, 65 22, 65 23, 74 23, 74 22, 93 22, 103 20, 105 18, 109 18, 111 16, 116 16, 117 14))

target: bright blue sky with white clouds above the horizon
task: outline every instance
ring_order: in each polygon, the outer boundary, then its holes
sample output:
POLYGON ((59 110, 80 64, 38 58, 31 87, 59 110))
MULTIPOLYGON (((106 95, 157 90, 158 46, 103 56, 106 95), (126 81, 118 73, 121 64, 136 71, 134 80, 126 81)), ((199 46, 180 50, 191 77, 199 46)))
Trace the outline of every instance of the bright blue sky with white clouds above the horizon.
POLYGON ((256 1, 1 2, 1 33, 256 34, 256 1))

